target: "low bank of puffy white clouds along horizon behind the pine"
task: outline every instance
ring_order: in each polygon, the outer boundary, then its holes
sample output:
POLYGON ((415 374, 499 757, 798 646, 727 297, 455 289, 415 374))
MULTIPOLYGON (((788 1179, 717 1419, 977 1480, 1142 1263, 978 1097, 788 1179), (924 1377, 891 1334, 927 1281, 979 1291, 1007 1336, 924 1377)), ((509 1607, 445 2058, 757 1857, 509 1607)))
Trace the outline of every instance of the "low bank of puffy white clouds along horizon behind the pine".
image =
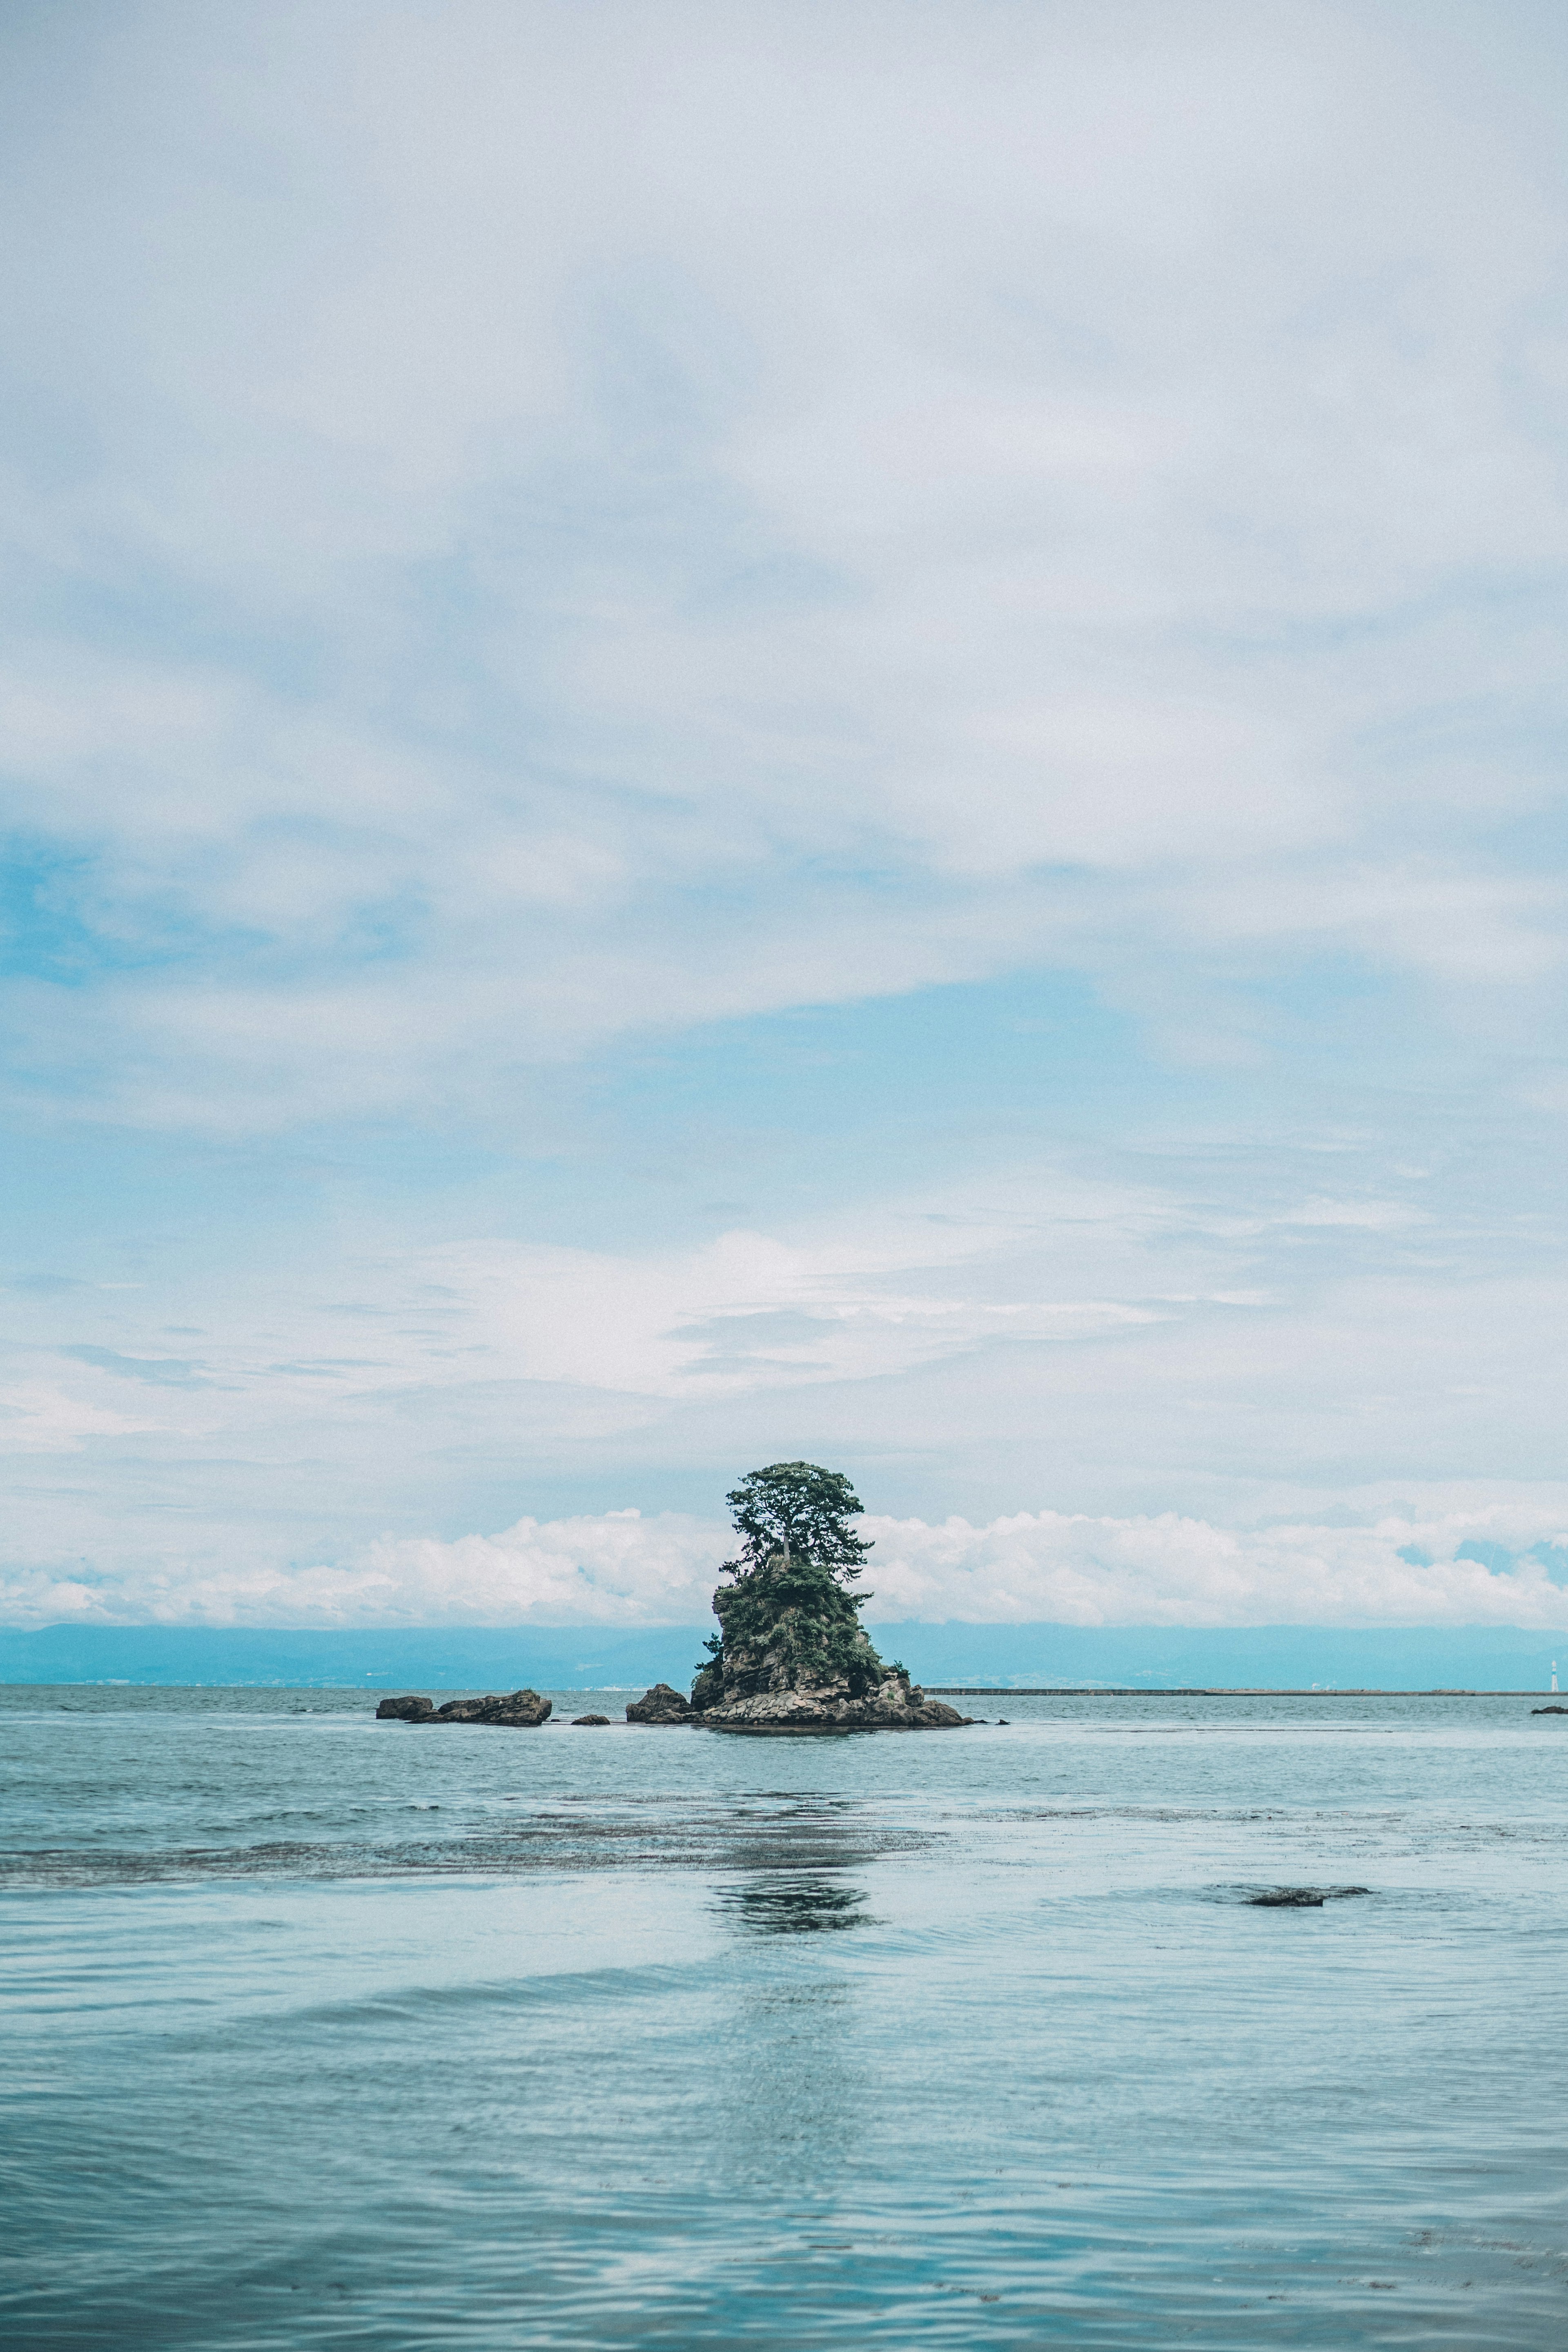
MULTIPOLYGON (((1056 1625, 1535 1625, 1568 1630, 1568 1515, 1535 1503, 1229 1531, 1206 1519, 872 1517, 867 1618, 1056 1625)), ((12 1625, 679 1625, 729 1529, 679 1512, 383 1536, 336 1566, 160 1564, 0 1581, 12 1625)))

